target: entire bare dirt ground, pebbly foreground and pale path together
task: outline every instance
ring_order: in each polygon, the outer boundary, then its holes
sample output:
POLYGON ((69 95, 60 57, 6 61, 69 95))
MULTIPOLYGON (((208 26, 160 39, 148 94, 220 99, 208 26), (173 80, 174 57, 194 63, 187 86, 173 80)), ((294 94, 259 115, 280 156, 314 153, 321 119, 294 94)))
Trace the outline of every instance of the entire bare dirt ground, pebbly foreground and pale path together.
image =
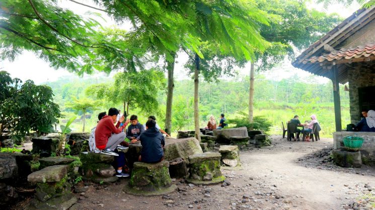
MULTIPOLYGON (((75 194, 79 201, 71 209, 341 209, 369 193, 366 183, 375 187, 375 167, 362 167, 366 172, 359 175, 343 171, 349 169, 325 170, 319 169, 318 162, 317 167, 308 167, 298 161, 331 147, 332 139, 287 142, 274 136, 272 141, 271 148, 241 151, 242 170, 222 170, 228 186, 189 186, 184 180, 174 180, 178 191, 138 197, 122 191, 128 178, 108 185, 85 183, 88 190, 75 194)), ((27 202, 14 209, 22 209, 27 202)))

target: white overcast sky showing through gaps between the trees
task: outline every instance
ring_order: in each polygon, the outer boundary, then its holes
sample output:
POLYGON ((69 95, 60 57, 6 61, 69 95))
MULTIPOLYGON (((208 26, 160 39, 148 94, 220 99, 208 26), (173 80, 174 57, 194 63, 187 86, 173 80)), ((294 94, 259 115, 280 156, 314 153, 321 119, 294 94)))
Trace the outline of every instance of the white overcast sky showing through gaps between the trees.
MULTIPOLYGON (((80 2, 83 2, 85 4, 94 5, 91 3, 90 0, 81 0, 80 2)), ((72 2, 61 0, 60 5, 63 8, 67 8, 69 10, 72 10, 73 12, 77 14, 81 14, 83 16, 87 16, 88 11, 91 12, 98 12, 94 10, 90 10, 90 8, 74 4, 72 2)), ((309 4, 310 8, 315 8, 317 10, 323 11, 321 5, 315 5, 313 3, 309 4)), ((341 5, 332 5, 330 8, 325 11, 327 13, 338 13, 343 18, 349 17, 353 12, 359 9, 358 5, 352 5, 350 8, 344 8, 341 5)), ((108 16, 105 14, 102 14, 103 18, 106 21, 98 20, 101 22, 103 26, 113 26, 116 25, 108 16)), ((117 25, 116 25, 117 26, 117 25)), ((122 29, 130 29, 130 24, 124 23, 120 26, 118 26, 122 29)), ((176 59, 175 64, 175 78, 176 79, 183 79, 187 78, 186 75, 186 69, 184 69, 184 64, 187 61, 187 55, 185 53, 178 54, 178 57, 176 59)), ((46 81, 54 81, 58 79, 61 76, 69 76, 73 75, 72 73, 69 73, 68 71, 64 69, 54 69, 49 66, 49 64, 41 59, 39 59, 37 56, 35 56, 31 52, 24 51, 24 53, 21 56, 18 56, 14 62, 10 62, 8 60, 0 61, 0 69, 6 70, 10 72, 12 77, 18 77, 22 79, 23 81, 27 79, 33 80, 36 84, 40 84, 42 82, 46 81)), ((246 65, 245 68, 238 68, 235 69, 239 72, 240 75, 248 75, 249 74, 250 65, 246 65)), ((105 76, 105 74, 101 73, 105 76)), ((310 73, 296 69, 292 67, 290 64, 290 61, 285 60, 281 65, 275 67, 272 71, 265 72, 264 74, 267 75, 267 78, 269 79, 275 79, 279 80, 282 78, 287 78, 289 75, 295 75, 298 74, 301 77, 309 76, 310 73)), ((87 75, 84 75, 84 77, 87 75)), ((111 76, 111 75, 110 75, 111 76)), ((228 78, 225 78, 228 79, 228 78)), ((320 82, 327 82, 328 79, 320 77, 320 82)))

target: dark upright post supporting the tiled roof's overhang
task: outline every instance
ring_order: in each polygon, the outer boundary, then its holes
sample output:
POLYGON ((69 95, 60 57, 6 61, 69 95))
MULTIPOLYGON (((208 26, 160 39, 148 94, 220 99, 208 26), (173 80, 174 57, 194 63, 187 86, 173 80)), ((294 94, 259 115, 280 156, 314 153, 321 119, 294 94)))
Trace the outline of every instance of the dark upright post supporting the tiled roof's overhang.
POLYGON ((335 123, 336 132, 340 132, 341 127, 341 104, 340 104, 340 86, 339 86, 339 70, 337 64, 332 66, 332 83, 333 83, 333 102, 335 104, 335 123))

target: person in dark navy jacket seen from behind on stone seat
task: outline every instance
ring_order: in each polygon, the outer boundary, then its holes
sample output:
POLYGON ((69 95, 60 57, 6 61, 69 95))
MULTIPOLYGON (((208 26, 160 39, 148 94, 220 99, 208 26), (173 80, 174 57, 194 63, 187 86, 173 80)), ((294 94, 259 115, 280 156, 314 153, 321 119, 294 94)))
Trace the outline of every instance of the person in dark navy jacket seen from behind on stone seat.
POLYGON ((147 130, 140 134, 142 150, 138 161, 144 163, 158 163, 164 160, 165 139, 162 133, 155 127, 155 120, 148 120, 147 130))

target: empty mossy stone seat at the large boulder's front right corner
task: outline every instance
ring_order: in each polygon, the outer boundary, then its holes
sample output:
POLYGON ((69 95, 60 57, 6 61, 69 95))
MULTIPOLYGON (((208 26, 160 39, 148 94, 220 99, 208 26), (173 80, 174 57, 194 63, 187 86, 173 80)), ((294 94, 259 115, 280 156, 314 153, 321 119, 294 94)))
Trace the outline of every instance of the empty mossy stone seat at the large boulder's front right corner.
POLYGON ((226 179, 220 171, 218 152, 205 152, 189 156, 190 176, 186 180, 193 184, 216 184, 226 179))

